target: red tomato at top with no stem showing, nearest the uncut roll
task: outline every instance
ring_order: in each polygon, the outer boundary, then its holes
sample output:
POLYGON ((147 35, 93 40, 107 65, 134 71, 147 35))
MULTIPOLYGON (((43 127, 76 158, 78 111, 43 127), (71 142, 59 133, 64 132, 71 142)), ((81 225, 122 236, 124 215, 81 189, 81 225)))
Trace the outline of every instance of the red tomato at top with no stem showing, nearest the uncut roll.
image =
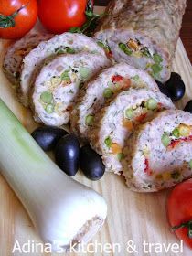
POLYGON ((61 34, 83 25, 86 5, 87 0, 39 0, 38 17, 50 32, 61 34))

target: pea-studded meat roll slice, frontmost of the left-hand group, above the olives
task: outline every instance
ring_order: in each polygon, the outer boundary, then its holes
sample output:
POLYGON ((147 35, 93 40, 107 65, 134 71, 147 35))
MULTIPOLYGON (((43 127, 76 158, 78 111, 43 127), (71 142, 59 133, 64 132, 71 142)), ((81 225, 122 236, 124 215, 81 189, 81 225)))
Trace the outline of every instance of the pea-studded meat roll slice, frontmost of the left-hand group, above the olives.
POLYGON ((100 54, 63 54, 39 72, 32 93, 36 120, 48 125, 69 123, 80 87, 111 61, 100 54))

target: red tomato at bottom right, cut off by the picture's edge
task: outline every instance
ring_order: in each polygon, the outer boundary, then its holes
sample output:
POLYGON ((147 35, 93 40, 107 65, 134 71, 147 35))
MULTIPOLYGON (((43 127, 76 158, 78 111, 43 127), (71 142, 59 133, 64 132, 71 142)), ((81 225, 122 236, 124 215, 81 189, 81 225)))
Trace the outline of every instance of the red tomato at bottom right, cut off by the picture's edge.
POLYGON ((172 228, 184 224, 175 233, 192 249, 192 232, 191 238, 188 236, 189 229, 192 229, 192 179, 180 183, 171 192, 167 201, 167 215, 172 228))

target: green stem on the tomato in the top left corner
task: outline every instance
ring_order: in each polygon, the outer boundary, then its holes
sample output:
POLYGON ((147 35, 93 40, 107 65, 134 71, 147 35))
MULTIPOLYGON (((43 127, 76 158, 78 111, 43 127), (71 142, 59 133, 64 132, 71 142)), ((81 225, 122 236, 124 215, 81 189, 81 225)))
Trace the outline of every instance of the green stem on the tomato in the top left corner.
POLYGON ((15 27, 16 22, 15 22, 15 17, 18 15, 18 13, 27 7, 29 5, 29 2, 26 5, 22 5, 19 9, 16 10, 11 16, 4 16, 0 14, 0 27, 2 28, 7 28, 7 27, 15 27))

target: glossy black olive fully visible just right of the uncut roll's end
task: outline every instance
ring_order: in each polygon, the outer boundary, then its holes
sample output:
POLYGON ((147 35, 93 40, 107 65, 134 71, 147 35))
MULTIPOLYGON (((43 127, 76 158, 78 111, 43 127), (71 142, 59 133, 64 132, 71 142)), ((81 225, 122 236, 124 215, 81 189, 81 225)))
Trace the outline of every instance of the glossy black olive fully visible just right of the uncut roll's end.
POLYGON ((166 81, 165 87, 168 90, 172 101, 181 100, 186 92, 186 86, 180 75, 172 72, 169 80, 166 81))

